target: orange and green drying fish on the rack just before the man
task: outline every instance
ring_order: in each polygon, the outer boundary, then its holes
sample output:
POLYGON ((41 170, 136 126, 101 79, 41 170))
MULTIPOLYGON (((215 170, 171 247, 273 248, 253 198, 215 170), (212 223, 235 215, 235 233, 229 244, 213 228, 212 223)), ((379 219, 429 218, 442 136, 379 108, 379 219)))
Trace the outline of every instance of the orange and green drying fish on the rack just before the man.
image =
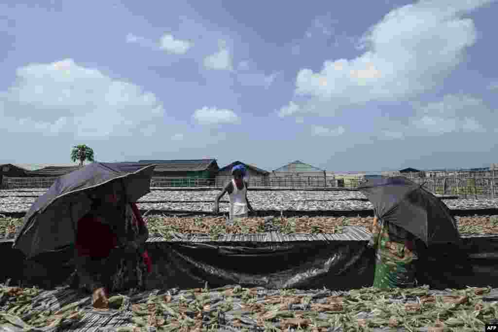
MULTIPOLYGON (((455 217, 461 234, 498 234, 498 216, 455 217)), ((345 226, 361 226, 369 229, 372 217, 248 217, 227 222, 224 216, 144 217, 150 237, 161 236, 168 240, 175 234, 185 238, 209 234, 218 238, 223 234, 256 234, 279 232, 282 234, 342 233, 345 226)), ((22 225, 22 219, 0 217, 0 238, 13 238, 22 225)))

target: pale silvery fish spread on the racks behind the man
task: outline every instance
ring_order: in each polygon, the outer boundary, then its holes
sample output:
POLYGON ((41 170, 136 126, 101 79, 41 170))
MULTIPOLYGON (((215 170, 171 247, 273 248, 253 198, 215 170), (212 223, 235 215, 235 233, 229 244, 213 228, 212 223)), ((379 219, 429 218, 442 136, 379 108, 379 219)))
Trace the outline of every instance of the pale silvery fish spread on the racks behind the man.
MULTIPOLYGON (((43 195, 44 190, 0 191, 0 213, 22 213, 43 195)), ((159 191, 152 190, 138 200, 142 210, 210 212, 218 190, 159 191)), ((220 202, 220 211, 228 212, 227 196, 220 202)), ((274 211, 362 211, 373 206, 360 192, 354 191, 249 191, 249 202, 255 210, 274 211)), ((450 209, 498 209, 498 199, 443 199, 450 209)))

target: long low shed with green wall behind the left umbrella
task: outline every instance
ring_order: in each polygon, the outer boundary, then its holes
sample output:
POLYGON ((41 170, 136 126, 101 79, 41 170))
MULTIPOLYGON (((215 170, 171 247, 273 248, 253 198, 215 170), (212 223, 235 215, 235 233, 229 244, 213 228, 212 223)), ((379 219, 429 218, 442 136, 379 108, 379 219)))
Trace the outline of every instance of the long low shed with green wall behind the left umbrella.
POLYGON ((152 187, 197 187, 214 185, 220 167, 216 159, 139 160, 157 164, 152 174, 152 187))

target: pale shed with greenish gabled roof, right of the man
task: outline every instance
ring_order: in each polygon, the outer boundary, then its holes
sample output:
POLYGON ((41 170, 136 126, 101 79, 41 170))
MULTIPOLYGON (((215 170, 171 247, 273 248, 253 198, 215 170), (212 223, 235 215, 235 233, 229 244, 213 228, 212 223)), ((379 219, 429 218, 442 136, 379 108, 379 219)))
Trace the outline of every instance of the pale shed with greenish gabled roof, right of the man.
POLYGON ((269 177, 280 187, 327 187, 327 171, 300 160, 277 168, 269 177))

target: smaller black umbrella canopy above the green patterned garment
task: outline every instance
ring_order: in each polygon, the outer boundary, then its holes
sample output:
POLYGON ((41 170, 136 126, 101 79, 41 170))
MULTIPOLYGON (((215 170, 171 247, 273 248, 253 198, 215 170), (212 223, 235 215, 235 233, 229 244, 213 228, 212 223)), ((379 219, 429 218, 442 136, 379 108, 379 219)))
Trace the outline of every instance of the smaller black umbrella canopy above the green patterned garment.
POLYGON ((378 218, 404 228, 426 245, 460 243, 448 207, 413 181, 401 176, 372 179, 358 189, 372 203, 378 218))

